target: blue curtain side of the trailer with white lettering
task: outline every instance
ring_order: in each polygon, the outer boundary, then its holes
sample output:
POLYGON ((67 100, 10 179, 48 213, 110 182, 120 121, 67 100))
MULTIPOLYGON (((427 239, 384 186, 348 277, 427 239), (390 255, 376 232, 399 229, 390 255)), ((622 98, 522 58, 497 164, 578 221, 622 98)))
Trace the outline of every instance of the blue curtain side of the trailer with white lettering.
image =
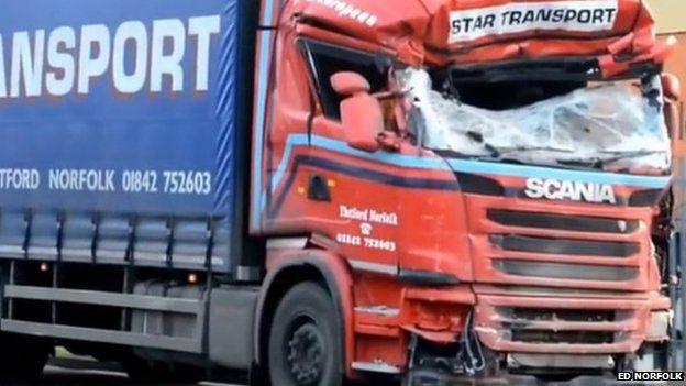
POLYGON ((3 5, 2 258, 232 272, 250 142, 248 8, 3 5))

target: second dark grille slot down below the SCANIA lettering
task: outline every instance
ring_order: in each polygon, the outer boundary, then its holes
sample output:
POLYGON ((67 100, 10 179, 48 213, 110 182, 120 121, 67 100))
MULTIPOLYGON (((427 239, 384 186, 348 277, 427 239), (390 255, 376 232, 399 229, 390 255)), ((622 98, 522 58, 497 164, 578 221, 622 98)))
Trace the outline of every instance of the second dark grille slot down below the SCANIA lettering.
POLYGON ((553 239, 518 234, 494 234, 490 242, 505 251, 577 256, 629 257, 639 253, 639 243, 553 239))

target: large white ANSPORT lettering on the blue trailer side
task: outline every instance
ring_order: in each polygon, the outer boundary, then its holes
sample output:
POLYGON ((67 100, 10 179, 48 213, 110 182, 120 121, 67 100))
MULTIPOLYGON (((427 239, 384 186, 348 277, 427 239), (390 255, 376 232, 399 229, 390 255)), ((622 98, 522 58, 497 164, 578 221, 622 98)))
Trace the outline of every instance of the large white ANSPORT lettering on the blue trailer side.
POLYGON ((85 96, 104 77, 122 95, 207 91, 220 30, 209 15, 0 34, 0 100, 85 96))

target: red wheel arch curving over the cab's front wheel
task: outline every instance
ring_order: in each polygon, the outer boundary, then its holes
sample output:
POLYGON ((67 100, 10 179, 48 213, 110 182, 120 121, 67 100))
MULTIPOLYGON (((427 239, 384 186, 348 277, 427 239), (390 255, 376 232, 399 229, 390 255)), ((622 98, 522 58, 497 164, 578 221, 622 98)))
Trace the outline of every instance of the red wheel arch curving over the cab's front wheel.
POLYGON ((341 322, 341 344, 345 363, 340 364, 344 374, 350 374, 348 364, 354 353, 352 277, 344 261, 328 251, 292 251, 279 253, 268 269, 255 310, 253 361, 265 365, 266 345, 272 318, 280 299, 292 286, 303 282, 317 282, 331 295, 341 322))

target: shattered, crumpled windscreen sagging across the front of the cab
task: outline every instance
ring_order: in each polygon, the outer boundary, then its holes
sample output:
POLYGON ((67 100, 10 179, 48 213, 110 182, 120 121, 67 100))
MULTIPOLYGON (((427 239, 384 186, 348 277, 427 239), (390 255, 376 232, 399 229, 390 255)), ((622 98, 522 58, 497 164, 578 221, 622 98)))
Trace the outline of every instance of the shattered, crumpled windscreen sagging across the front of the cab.
MULTIPOLYGON (((533 165, 639 169, 670 168, 671 147, 657 76, 643 81, 586 85, 531 103, 512 103, 509 90, 482 97, 499 109, 468 104, 460 89, 435 89, 429 71, 398 70, 420 144, 454 156, 533 165), (514 106, 514 107, 512 107, 514 106), (418 122, 419 119, 419 123, 418 122), (417 130, 417 128, 416 128, 417 130)), ((524 96, 525 97, 525 96, 524 96)))

